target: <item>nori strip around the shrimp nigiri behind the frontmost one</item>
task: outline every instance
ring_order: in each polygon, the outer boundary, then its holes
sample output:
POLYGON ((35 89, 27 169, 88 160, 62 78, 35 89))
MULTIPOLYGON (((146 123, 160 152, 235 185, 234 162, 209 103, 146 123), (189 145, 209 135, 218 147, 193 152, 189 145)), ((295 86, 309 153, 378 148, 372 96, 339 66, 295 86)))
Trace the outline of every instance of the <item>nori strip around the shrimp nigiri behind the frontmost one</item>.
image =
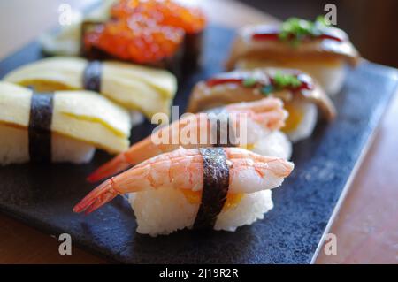
POLYGON ((214 133, 216 136, 216 143, 214 144, 214 147, 235 147, 237 145, 236 134, 233 130, 233 125, 226 110, 223 107, 218 107, 210 109, 206 112, 210 118, 210 125, 213 126, 213 128, 210 129, 210 133, 214 133), (226 142, 225 140, 221 140, 221 128, 225 127, 226 142))

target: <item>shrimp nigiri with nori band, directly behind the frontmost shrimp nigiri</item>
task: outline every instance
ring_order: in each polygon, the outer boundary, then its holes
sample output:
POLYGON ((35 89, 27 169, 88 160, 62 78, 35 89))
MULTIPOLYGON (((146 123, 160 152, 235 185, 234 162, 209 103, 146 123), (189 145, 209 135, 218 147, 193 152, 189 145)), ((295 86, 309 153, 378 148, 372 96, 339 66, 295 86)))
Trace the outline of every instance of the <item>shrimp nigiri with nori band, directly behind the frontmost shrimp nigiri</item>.
POLYGON ((292 153, 292 144, 287 136, 279 131, 285 125, 286 118, 287 111, 283 110, 283 102, 273 97, 248 103, 232 103, 208 112, 182 117, 103 164, 88 177, 88 180, 96 182, 109 178, 152 156, 178 149, 180 146, 200 148, 229 145, 246 148, 264 156, 288 159, 292 153), (224 127, 226 129, 224 140, 221 139, 222 124, 229 126, 229 128, 224 127), (244 136, 236 136, 240 133, 240 126, 246 127, 241 133, 244 136), (189 140, 185 140, 187 134, 184 133, 188 132, 189 140), (165 142, 157 141, 157 138, 163 137, 167 139, 165 142), (222 141, 225 141, 224 144, 222 141))

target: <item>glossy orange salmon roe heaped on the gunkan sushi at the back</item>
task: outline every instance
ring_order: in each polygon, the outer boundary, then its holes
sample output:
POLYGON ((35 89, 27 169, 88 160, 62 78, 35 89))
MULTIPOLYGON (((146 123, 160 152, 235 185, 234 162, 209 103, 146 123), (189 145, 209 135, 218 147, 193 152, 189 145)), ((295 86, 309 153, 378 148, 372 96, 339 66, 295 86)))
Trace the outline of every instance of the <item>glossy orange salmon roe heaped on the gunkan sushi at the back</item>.
POLYGON ((120 59, 156 63, 177 52, 185 32, 204 25, 202 11, 170 0, 120 0, 111 8, 110 21, 85 34, 84 45, 120 59))

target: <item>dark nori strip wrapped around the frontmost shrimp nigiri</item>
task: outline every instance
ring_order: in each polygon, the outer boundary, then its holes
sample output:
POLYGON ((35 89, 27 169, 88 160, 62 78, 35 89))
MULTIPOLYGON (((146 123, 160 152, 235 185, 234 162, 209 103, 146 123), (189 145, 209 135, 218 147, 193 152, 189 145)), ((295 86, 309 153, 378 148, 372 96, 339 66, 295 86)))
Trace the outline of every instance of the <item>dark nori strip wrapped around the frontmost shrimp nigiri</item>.
POLYGON ((199 151, 203 156, 203 189, 194 229, 212 229, 226 203, 229 167, 224 149, 201 148, 199 151))

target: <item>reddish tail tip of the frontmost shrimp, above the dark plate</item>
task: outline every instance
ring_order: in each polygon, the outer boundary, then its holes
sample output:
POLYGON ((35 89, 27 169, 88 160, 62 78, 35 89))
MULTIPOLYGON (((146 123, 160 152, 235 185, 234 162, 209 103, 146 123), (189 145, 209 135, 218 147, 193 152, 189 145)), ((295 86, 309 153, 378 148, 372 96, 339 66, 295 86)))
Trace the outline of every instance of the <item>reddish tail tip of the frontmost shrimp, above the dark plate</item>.
POLYGON ((102 207, 105 203, 110 202, 119 194, 113 186, 113 178, 103 182, 103 184, 96 187, 87 196, 85 196, 83 200, 76 204, 73 207, 73 211, 77 213, 85 211, 86 214, 89 214, 102 207))

